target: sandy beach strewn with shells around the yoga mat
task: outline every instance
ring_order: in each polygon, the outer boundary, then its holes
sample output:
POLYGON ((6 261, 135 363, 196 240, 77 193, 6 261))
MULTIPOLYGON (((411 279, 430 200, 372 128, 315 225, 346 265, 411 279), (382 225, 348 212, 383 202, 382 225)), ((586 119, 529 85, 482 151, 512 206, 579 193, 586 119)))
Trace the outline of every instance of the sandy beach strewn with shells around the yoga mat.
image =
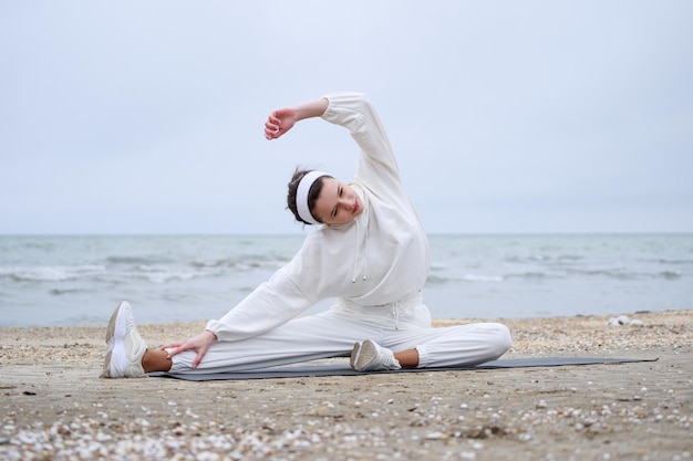
POLYGON ((625 314, 500 319, 504 358, 658 362, 207 383, 99 378, 104 327, 0 328, 0 459, 691 459, 693 311, 625 314))

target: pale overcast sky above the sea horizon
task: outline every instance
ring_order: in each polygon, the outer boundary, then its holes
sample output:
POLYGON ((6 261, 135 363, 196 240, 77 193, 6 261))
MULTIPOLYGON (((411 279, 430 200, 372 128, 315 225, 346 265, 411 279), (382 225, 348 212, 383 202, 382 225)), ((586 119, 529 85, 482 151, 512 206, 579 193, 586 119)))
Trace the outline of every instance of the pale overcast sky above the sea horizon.
POLYGON ((296 233, 369 94, 430 232, 693 231, 691 1, 3 1, 0 233, 296 233))

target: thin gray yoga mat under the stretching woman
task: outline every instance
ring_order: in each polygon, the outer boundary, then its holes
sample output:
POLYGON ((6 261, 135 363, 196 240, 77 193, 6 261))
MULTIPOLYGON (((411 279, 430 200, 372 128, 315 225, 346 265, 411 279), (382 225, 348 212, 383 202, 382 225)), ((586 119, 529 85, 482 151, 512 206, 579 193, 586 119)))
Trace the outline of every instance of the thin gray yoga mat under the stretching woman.
POLYGON ((275 368, 258 368, 248 371, 232 373, 151 373, 151 377, 175 378, 188 381, 211 381, 226 379, 271 379, 271 378, 304 378, 312 376, 364 376, 386 373, 432 373, 432 371, 455 371, 470 369, 494 369, 494 368, 528 368, 528 367, 560 367, 567 365, 599 365, 599 364, 624 364, 634 362, 656 362, 658 358, 594 358, 594 357, 538 357, 538 358, 509 358, 487 362, 476 366, 464 367, 436 367, 436 368, 405 368, 397 370, 359 373, 349 365, 298 365, 275 368))

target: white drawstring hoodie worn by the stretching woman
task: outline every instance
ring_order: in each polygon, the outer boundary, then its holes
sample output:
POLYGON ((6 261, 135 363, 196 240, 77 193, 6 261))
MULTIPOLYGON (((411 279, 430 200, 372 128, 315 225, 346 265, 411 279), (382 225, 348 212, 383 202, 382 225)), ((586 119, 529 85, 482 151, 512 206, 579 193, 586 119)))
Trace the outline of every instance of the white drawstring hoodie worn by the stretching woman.
POLYGON ((387 135, 363 94, 331 93, 322 118, 348 128, 361 148, 351 186, 363 211, 353 222, 311 231, 301 250, 269 281, 206 329, 218 340, 269 332, 325 297, 362 306, 406 298, 428 275, 428 243, 408 199, 387 135))

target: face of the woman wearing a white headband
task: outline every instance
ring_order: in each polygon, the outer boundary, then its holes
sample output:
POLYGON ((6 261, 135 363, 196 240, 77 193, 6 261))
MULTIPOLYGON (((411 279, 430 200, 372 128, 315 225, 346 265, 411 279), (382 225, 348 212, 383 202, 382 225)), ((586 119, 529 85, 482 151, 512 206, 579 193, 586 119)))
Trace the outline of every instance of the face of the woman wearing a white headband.
POLYGON ((323 224, 345 224, 363 212, 363 203, 349 185, 334 178, 323 178, 312 212, 323 224))

